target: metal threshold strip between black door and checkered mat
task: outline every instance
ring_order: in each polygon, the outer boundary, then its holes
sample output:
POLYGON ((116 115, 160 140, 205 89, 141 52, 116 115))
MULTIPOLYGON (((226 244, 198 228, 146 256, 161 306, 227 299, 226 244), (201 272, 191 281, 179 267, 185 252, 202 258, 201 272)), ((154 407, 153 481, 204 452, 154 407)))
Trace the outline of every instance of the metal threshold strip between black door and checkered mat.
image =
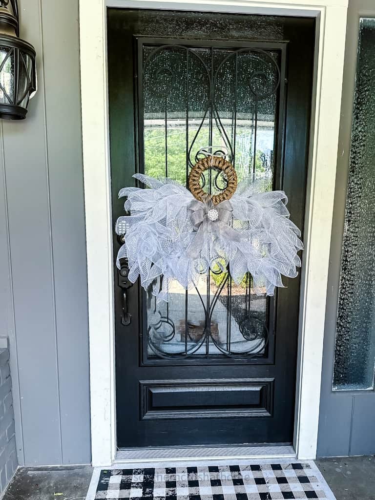
POLYGON ((295 451, 290 445, 275 446, 187 446, 157 448, 121 448, 117 451, 113 464, 131 462, 158 462, 176 460, 220 460, 224 459, 262 459, 295 458, 295 451))

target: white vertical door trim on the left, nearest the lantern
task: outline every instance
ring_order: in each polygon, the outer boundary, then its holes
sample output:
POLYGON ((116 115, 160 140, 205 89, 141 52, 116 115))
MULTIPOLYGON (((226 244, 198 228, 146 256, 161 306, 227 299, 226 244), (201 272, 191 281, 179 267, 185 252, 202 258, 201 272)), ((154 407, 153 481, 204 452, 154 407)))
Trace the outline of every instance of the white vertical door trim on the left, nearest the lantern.
POLYGON ((112 219, 105 23, 103 0, 79 2, 91 450, 92 463, 98 466, 110 464, 115 454, 112 219))

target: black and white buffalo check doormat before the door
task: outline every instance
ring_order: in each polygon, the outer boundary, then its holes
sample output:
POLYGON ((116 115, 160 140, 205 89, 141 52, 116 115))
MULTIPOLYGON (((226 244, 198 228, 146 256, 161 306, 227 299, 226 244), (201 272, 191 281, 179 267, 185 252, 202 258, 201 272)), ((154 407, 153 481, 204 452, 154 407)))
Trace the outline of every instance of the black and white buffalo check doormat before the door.
POLYGON ((313 461, 95 469, 87 500, 115 498, 334 500, 313 461))

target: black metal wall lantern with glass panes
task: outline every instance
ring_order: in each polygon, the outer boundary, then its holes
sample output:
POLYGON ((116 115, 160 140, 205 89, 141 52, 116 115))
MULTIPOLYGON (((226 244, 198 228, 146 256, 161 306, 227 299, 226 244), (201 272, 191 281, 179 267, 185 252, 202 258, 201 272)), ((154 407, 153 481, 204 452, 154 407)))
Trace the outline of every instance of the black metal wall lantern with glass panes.
POLYGON ((0 118, 21 120, 36 91, 35 49, 19 38, 17 0, 0 0, 0 118))

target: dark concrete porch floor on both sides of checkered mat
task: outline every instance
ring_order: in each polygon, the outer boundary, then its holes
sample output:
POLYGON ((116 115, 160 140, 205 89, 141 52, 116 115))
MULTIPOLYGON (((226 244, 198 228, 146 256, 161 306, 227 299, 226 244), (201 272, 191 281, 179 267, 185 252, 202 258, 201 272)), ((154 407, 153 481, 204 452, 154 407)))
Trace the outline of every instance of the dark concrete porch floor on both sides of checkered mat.
MULTIPOLYGON (((375 500, 375 457, 316 460, 337 500, 375 500)), ((91 479, 90 466, 22 467, 2 500, 83 500, 91 479)))

